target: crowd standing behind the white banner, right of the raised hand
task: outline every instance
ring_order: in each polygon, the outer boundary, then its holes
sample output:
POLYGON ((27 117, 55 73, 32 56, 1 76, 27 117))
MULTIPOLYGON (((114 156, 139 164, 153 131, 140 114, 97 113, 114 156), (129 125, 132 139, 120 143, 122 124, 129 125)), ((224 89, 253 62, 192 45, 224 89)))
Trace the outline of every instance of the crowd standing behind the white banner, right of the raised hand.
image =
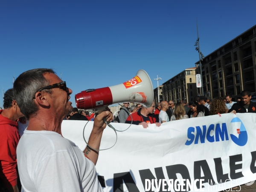
POLYGON ((170 100, 158 102, 156 106, 153 102, 151 107, 137 104, 129 108, 129 103, 123 103, 115 120, 120 123, 143 125, 143 128, 147 128, 148 124, 152 123, 156 123, 157 127, 160 127, 160 124, 168 121, 223 113, 256 113, 256 103, 250 101, 251 93, 249 91, 242 91, 241 98, 238 98, 237 102, 234 102, 232 97, 230 94, 224 98, 216 97, 214 99, 196 96, 190 103, 187 103, 186 100, 179 103, 170 100))

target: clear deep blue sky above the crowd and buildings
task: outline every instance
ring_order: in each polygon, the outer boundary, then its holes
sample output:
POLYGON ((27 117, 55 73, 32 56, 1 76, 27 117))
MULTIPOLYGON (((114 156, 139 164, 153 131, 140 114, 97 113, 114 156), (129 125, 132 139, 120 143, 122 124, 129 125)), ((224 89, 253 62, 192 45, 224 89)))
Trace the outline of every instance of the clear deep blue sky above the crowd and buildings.
POLYGON ((75 94, 139 69, 157 87, 256 24, 255 0, 8 0, 0 2, 0 107, 13 76, 53 68, 75 94))

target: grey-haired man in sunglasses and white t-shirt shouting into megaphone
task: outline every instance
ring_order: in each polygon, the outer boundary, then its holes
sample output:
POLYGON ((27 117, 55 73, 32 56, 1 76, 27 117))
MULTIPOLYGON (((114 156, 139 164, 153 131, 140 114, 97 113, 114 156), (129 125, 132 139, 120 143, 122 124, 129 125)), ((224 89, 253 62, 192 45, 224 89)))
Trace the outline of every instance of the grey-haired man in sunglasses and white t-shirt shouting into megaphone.
MULTIPOLYGON (((62 137, 61 122, 73 109, 67 88, 52 69, 26 71, 14 82, 14 97, 29 120, 17 146, 17 164, 23 191, 103 192, 95 164, 99 152, 88 146, 82 152, 62 137)), ((94 119, 88 145, 99 149, 106 124, 113 120, 109 111, 94 119)))

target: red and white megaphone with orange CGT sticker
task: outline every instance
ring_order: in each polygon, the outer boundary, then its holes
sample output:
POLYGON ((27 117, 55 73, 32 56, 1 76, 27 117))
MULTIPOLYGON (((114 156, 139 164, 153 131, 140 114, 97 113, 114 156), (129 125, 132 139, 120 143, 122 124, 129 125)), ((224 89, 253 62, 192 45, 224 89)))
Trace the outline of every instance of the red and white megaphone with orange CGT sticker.
POLYGON ((127 82, 106 88, 87 89, 75 95, 76 107, 95 109, 122 102, 136 102, 151 107, 154 99, 152 82, 144 70, 127 82))

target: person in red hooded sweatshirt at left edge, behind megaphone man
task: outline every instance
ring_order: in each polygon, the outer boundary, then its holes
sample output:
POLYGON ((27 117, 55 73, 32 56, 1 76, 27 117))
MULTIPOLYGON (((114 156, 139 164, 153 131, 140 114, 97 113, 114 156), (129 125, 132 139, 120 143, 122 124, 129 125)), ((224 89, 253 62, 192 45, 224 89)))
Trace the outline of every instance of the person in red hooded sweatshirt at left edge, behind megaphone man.
POLYGON ((16 120, 24 115, 20 112, 13 97, 13 89, 3 97, 3 110, 0 110, 0 185, 9 192, 18 192, 16 148, 20 139, 16 120))

